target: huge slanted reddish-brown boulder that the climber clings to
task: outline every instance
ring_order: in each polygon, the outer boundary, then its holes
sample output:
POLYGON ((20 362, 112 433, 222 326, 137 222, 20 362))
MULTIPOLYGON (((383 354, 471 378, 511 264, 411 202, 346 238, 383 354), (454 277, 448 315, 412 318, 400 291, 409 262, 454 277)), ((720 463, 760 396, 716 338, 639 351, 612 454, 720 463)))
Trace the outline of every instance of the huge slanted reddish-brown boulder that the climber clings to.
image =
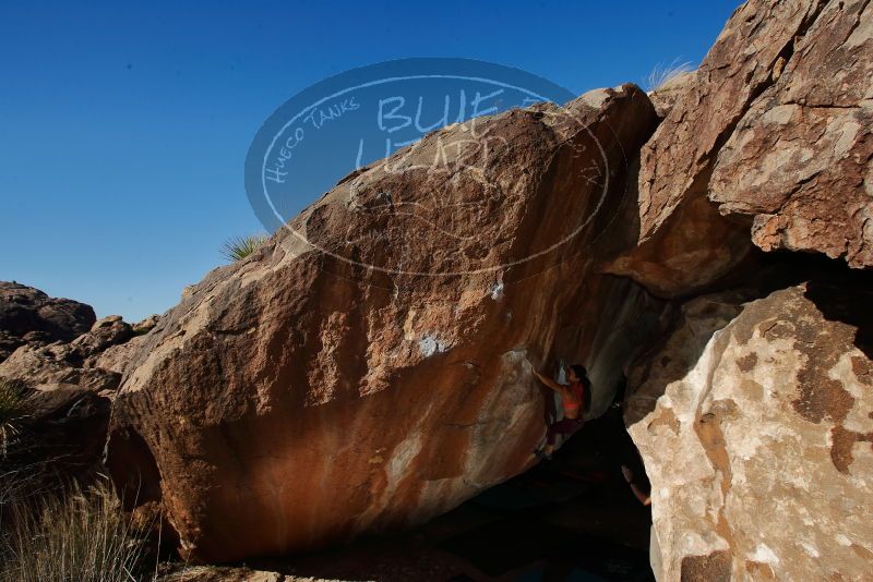
POLYGON ((524 471, 551 398, 530 367, 588 364, 606 407, 615 349, 657 325, 638 286, 593 268, 655 122, 636 87, 603 89, 346 178, 146 337, 116 478, 133 468, 163 500, 187 558, 228 561, 420 522, 524 471))

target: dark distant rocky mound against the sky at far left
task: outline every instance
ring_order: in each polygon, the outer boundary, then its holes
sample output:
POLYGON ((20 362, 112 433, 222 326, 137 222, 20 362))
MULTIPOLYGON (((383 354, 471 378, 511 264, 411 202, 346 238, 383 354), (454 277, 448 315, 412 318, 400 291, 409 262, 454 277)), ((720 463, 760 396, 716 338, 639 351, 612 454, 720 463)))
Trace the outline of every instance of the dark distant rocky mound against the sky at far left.
POLYGON ((24 344, 70 341, 96 320, 89 305, 0 281, 0 362, 24 344))

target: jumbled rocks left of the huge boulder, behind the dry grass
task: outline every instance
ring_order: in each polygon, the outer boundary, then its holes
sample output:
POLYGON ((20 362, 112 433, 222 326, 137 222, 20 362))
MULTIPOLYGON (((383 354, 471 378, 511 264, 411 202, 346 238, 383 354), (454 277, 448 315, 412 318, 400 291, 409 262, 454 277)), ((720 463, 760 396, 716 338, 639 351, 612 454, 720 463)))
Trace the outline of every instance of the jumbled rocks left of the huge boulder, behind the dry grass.
MULTIPOLYGON (((3 487, 24 483, 31 493, 45 493, 49 483, 53 487, 93 476, 127 353, 156 320, 152 316, 131 326, 119 316, 96 319, 89 305, 0 281, 0 337, 13 348, 8 355, 0 352, 3 487), (12 417, 16 411, 10 410, 14 402, 8 381, 23 381, 27 405, 17 410, 21 419, 12 417), (14 438, 22 432, 26 438, 14 438)), ((14 496, 5 493, 0 500, 9 502, 14 496)))

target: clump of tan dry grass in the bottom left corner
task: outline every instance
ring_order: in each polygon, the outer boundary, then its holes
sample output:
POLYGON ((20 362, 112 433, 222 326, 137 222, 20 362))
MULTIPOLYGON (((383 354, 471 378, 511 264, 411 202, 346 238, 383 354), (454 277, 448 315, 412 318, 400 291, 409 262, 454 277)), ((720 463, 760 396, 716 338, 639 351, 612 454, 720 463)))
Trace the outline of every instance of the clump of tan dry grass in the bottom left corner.
POLYGON ((140 580, 145 532, 107 482, 16 506, 0 554, 0 582, 140 580))

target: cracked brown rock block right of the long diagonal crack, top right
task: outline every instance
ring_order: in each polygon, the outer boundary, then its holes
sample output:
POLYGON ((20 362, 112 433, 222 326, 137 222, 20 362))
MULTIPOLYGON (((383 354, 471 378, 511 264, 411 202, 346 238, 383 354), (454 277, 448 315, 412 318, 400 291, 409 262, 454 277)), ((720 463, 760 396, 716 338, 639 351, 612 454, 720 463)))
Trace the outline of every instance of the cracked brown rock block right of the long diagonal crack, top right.
POLYGON ((873 267, 873 5, 828 2, 805 26, 719 151, 709 198, 753 217, 765 251, 873 267))

